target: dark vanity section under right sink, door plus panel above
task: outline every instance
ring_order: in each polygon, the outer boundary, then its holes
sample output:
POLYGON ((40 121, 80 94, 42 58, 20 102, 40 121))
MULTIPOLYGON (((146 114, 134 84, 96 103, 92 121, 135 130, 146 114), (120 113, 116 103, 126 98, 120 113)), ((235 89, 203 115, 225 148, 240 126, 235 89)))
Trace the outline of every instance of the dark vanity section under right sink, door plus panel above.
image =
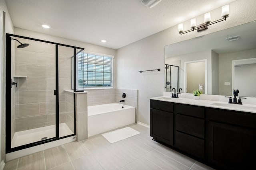
POLYGON ((210 108, 207 113, 208 161, 222 169, 254 169, 256 116, 210 108))

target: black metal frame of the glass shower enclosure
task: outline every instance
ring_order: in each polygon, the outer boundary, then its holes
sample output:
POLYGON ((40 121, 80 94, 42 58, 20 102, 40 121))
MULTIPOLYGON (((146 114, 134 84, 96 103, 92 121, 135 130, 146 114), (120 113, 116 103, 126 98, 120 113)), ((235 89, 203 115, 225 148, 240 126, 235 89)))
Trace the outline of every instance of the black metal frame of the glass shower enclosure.
MULTIPOLYGON (((34 142, 34 143, 29 143, 29 144, 26 144, 26 145, 21 145, 21 146, 18 146, 18 147, 14 147, 12 148, 11 147, 11 141, 12 141, 12 137, 11 137, 11 102, 12 102, 12 99, 11 99, 11 82, 10 82, 10 79, 11 79, 11 37, 18 37, 18 38, 23 38, 23 39, 29 39, 29 40, 33 40, 33 41, 39 41, 39 42, 43 42, 43 43, 50 43, 50 44, 54 44, 56 45, 56 49, 58 49, 58 46, 64 46, 64 47, 70 47, 70 48, 73 48, 74 49, 74 54, 76 53, 76 49, 80 49, 81 51, 84 50, 84 48, 81 48, 81 47, 75 47, 75 46, 71 46, 71 45, 66 45, 66 44, 61 44, 61 43, 54 43, 54 42, 51 42, 51 41, 45 41, 45 40, 41 40, 41 39, 35 39, 35 38, 30 38, 30 37, 24 37, 24 36, 20 36, 20 35, 14 35, 14 34, 9 34, 9 33, 6 33, 6 153, 10 153, 10 152, 14 152, 14 151, 17 151, 17 150, 22 150, 22 149, 26 149, 26 148, 30 148, 30 147, 34 147, 34 146, 37 146, 37 145, 41 145, 41 144, 44 144, 44 143, 48 143, 48 142, 52 142, 52 141, 57 141, 57 140, 60 140, 60 139, 64 139, 64 138, 67 138, 67 137, 71 137, 71 136, 75 136, 76 135, 76 120, 75 120, 75 117, 76 117, 76 109, 74 107, 74 134, 71 134, 71 135, 67 135, 67 136, 64 136, 64 137, 59 137, 59 131, 57 132, 57 127, 59 126, 59 124, 56 125, 56 137, 53 137, 53 138, 49 138, 49 139, 45 139, 45 140, 42 140, 42 141, 37 141, 37 142, 34 142), (8 113, 8 114, 7 114, 8 113)), ((56 90, 54 90, 54 94, 56 94, 56 100, 58 99, 58 51, 56 51, 56 90)), ((75 72, 75 70, 74 70, 75 72)), ((76 75, 74 74, 74 82, 76 80, 76 75)), ((74 92, 75 92, 75 89, 74 89, 74 92)), ((75 94, 75 93, 74 93, 75 94)), ((75 95, 74 95, 75 97, 75 95)), ((74 98, 74 102, 75 102, 75 98, 74 98)), ((57 105, 58 104, 58 100, 56 101, 56 118, 59 117, 59 113, 57 112, 58 111, 58 108, 59 106, 57 105), (58 108, 57 108, 58 107, 58 108)), ((75 103, 74 103, 75 104, 75 103)), ((74 105, 75 106, 75 105, 74 105)), ((58 121, 56 120, 56 123, 58 121)))

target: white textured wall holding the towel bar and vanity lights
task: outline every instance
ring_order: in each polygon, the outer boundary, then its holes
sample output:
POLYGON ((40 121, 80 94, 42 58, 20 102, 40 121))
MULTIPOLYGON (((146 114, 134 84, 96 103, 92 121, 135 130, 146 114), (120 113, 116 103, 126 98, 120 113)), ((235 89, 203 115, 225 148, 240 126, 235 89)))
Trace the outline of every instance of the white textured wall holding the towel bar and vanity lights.
MULTIPOLYGON (((170 27, 117 50, 117 88, 138 89, 138 121, 149 124, 149 99, 162 96, 164 91, 164 46, 220 31, 256 20, 256 0, 236 0, 230 3, 230 17, 211 25, 207 30, 178 34, 178 25, 170 27), (139 73, 139 70, 160 68, 161 71, 139 73)), ((212 20, 220 19, 221 8, 211 11, 212 20)), ((186 15, 186 14, 184 14, 186 15)), ((196 17, 203 23, 204 16, 196 17)), ((189 28, 190 20, 183 22, 189 28)))

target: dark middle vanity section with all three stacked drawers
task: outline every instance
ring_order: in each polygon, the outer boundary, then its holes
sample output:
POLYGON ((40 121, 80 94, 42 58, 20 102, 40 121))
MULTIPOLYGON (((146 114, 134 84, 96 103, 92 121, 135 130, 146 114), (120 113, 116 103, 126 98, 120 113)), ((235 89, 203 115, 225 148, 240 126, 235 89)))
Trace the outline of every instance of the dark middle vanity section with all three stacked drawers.
POLYGON ((195 158, 204 159, 204 108, 174 104, 174 146, 195 158))

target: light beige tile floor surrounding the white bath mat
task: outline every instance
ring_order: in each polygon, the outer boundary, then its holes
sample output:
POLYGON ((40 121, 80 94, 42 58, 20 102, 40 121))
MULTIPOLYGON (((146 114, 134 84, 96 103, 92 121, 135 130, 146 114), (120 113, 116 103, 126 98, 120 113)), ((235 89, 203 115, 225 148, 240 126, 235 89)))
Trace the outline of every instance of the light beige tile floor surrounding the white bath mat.
POLYGON ((140 134, 113 144, 96 135, 11 160, 4 170, 213 170, 152 141, 147 127, 130 127, 140 134))

